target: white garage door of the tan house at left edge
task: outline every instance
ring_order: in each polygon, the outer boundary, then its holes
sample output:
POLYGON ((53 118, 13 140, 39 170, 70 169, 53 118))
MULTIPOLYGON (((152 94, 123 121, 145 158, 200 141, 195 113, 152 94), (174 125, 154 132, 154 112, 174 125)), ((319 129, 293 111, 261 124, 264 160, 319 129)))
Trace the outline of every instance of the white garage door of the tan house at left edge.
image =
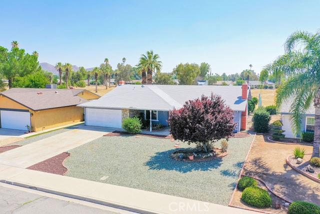
POLYGON ((30 112, 25 111, 0 111, 1 128, 27 130, 30 124, 30 112))

